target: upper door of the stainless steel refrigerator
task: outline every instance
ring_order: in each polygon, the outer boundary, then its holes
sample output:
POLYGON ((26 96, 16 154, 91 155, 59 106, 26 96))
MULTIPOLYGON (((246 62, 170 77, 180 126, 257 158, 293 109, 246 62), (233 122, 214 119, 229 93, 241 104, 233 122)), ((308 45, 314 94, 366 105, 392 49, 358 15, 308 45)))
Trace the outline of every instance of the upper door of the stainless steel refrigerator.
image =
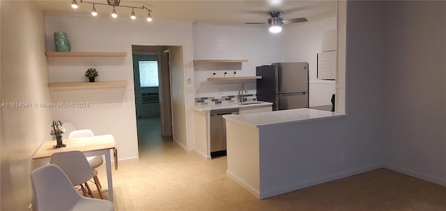
POLYGON ((277 93, 308 92, 308 63, 275 63, 277 68, 277 93))

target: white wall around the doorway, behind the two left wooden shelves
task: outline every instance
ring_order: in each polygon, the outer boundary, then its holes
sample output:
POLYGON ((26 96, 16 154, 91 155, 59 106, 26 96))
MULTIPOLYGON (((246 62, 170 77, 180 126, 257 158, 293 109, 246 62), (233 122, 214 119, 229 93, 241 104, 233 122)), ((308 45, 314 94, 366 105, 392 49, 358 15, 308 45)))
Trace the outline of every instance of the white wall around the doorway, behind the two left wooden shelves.
MULTIPOLYGON (((185 92, 184 80, 192 75, 192 24, 190 22, 146 22, 144 19, 131 21, 125 18, 112 17, 68 17, 47 15, 47 50, 54 50, 53 33, 68 33, 71 50, 84 52, 127 52, 125 57, 67 57, 49 58, 51 82, 86 81, 84 71, 95 67, 100 72, 98 81, 127 80, 127 88, 109 88, 84 91, 55 91, 54 102, 90 102, 86 109, 56 108, 54 116, 68 121, 77 128, 90 128, 95 134, 114 134, 119 150, 119 159, 138 157, 137 130, 134 111, 132 45, 176 45, 183 46, 183 65, 178 71, 179 77, 172 84, 179 84, 181 97, 176 103, 183 104, 185 109, 191 107, 187 100, 193 93, 185 92)), ((191 85, 192 86, 192 85, 191 85)), ((177 95, 174 95, 174 97, 177 95)), ((175 101, 175 99, 174 99, 175 101)), ((187 127, 187 113, 174 116, 174 127, 187 127)), ((187 143, 191 139, 185 134, 174 134, 178 143, 187 143)), ((187 144, 185 144, 187 146, 187 144)))

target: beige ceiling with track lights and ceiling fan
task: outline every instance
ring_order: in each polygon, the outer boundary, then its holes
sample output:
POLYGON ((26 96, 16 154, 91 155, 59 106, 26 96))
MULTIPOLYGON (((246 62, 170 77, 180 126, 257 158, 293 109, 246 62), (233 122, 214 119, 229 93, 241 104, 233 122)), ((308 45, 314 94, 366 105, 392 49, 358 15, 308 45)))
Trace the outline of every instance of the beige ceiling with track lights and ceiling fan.
MULTIPOLYGON (((72 9, 72 0, 36 0, 48 15, 90 15, 90 3, 81 3, 77 0, 79 8, 72 9)), ((107 3, 107 0, 85 0, 98 3, 107 3)), ((213 24, 244 24, 245 22, 267 22, 268 11, 282 10, 284 19, 306 17, 309 22, 332 17, 336 14, 337 1, 130 1, 121 0, 121 6, 146 6, 151 9, 154 21, 185 21, 206 22, 213 24)), ((111 6, 95 5, 100 16, 109 17, 111 6)), ((118 18, 129 17, 131 8, 117 7, 118 18)), ((137 17, 146 17, 147 10, 134 10, 137 17)))

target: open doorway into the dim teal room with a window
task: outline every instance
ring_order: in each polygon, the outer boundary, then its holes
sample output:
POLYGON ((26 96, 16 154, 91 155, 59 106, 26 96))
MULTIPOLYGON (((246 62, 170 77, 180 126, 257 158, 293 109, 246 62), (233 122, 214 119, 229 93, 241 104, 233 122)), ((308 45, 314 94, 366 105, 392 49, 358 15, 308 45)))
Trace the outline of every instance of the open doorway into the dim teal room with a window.
POLYGON ((132 45, 138 147, 172 140, 168 47, 132 45))

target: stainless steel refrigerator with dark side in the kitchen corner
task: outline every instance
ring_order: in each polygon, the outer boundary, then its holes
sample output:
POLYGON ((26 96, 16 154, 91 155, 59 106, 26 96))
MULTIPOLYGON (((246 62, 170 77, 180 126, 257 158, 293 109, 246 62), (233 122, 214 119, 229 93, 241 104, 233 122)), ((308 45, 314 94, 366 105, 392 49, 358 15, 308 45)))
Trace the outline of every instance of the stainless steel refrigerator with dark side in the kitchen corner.
POLYGON ((256 68, 257 100, 272 102, 272 110, 308 107, 308 63, 272 63, 256 68))

